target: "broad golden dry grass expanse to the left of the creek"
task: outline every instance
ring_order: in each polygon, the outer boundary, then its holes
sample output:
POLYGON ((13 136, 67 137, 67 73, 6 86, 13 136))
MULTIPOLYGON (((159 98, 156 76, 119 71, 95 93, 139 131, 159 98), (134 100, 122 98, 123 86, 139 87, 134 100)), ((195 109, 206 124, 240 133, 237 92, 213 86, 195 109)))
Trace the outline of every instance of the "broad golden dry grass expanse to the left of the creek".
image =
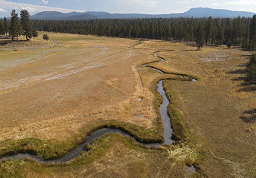
POLYGON ((128 48, 137 41, 48 35, 63 46, 0 51, 0 140, 66 140, 102 120, 152 127, 150 82, 142 86, 138 74, 151 56, 128 48))

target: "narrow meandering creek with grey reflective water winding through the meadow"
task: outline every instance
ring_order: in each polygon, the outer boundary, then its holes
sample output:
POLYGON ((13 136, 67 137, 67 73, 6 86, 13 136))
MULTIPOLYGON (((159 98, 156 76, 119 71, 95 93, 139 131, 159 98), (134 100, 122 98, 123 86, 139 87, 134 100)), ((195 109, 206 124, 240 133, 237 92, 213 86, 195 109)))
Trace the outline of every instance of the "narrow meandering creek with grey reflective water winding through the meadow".
MULTIPOLYGON (((132 46, 133 47, 133 46, 132 46)), ((164 58, 161 58, 157 55, 157 53, 159 53, 159 51, 157 51, 154 56, 156 56, 157 58, 161 59, 161 61, 164 61, 164 58)), ((157 61, 158 62, 158 61, 157 61)), ((151 63, 155 63, 155 62, 151 62, 151 63)), ((149 64, 151 63, 147 63, 147 64, 144 64, 142 65, 142 67, 150 67, 148 66, 149 64)), ((155 67, 150 67, 154 70, 156 70, 157 72, 161 73, 161 74, 171 74, 171 73, 167 73, 167 72, 164 72, 160 69, 157 69, 155 67)), ((180 75, 180 76, 188 76, 188 75, 182 75, 182 74, 175 74, 175 75, 180 75)), ((171 128, 171 122, 170 122, 170 117, 168 115, 168 105, 170 103, 170 101, 168 100, 166 94, 165 94, 165 91, 164 91, 164 87, 163 87, 163 81, 164 80, 161 80, 159 83, 158 83, 158 87, 157 87, 157 91, 161 94, 161 96, 163 97, 164 101, 163 101, 163 104, 161 104, 160 106, 160 115, 161 115, 161 118, 162 118, 162 121, 163 121, 163 127, 164 127, 164 144, 172 144, 174 141, 171 139, 171 135, 172 135, 172 128, 171 128)), ((197 81, 196 79, 192 79, 192 81, 197 81)), ((96 130, 95 132, 93 132, 89 137, 88 139, 86 140, 85 143, 79 145, 76 149, 74 149, 73 151, 70 151, 68 154, 66 154, 65 156, 59 158, 59 159, 55 159, 55 160, 45 160, 43 159, 43 157, 37 157, 37 156, 34 156, 34 155, 31 155, 31 154, 15 154, 13 156, 7 156, 7 157, 2 157, 0 158, 0 162, 1 161, 4 161, 4 160, 9 160, 9 159, 25 159, 25 158, 30 158, 30 159, 33 159, 35 161, 38 161, 38 162, 43 162, 43 163, 65 163, 67 161, 71 161, 72 159, 78 157, 81 152, 84 152, 86 151, 85 149, 85 145, 90 143, 92 140, 94 139, 97 139, 97 138, 100 138, 102 137, 102 135, 105 135, 106 133, 120 133, 124 136, 128 136, 130 137, 130 139, 133 139, 135 140, 133 137, 131 137, 128 133, 120 130, 120 129, 112 129, 112 128, 102 128, 102 129, 99 129, 99 130, 96 130)), ((148 146, 148 147, 157 147, 161 144, 159 143, 155 143, 155 144, 144 144, 144 143, 141 143, 141 142, 138 142, 137 140, 135 140, 135 142, 141 144, 141 145, 145 145, 145 146, 148 146)))

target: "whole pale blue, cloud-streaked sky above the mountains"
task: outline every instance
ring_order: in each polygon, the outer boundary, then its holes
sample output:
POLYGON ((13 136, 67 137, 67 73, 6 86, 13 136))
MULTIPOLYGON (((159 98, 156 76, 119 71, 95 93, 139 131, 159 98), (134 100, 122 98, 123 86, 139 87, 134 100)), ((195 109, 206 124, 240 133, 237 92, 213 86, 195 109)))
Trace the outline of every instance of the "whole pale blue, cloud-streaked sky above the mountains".
POLYGON ((45 10, 170 14, 192 7, 256 12, 256 0, 0 0, 0 17, 9 17, 12 9, 27 9, 31 15, 45 10))

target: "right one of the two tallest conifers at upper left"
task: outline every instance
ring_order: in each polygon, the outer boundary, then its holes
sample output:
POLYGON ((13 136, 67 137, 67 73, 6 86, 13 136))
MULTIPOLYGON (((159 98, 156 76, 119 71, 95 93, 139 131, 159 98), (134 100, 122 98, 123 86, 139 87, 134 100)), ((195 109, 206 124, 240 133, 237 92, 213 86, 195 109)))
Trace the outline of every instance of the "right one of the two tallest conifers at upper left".
POLYGON ((26 40, 29 41, 29 38, 33 37, 33 27, 30 22, 28 10, 21 10, 21 25, 23 28, 23 33, 26 35, 26 40))

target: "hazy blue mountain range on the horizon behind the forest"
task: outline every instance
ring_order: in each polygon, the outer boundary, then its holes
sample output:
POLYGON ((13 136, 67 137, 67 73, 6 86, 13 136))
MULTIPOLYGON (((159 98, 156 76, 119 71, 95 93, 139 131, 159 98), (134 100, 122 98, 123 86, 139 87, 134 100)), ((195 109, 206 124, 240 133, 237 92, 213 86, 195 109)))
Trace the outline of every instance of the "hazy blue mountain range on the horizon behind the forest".
POLYGON ((87 20, 87 19, 141 19, 141 18, 173 18, 173 17, 252 17, 255 13, 232 11, 224 9, 192 8, 187 12, 179 14, 110 14, 107 12, 70 12, 61 13, 56 11, 40 12, 31 16, 31 19, 45 20, 87 20))

